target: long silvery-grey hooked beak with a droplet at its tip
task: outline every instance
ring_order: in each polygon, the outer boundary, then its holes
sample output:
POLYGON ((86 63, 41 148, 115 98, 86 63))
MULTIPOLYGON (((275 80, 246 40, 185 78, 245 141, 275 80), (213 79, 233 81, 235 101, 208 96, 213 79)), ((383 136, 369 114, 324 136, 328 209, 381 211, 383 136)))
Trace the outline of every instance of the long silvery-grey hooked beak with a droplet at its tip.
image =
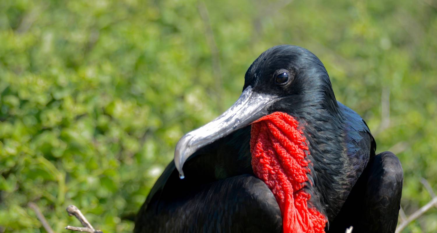
POLYGON ((250 86, 246 87, 238 100, 222 115, 184 135, 177 142, 174 151, 174 163, 179 171, 179 177, 184 178, 182 167, 193 153, 267 115, 268 108, 275 97, 254 92, 250 86))

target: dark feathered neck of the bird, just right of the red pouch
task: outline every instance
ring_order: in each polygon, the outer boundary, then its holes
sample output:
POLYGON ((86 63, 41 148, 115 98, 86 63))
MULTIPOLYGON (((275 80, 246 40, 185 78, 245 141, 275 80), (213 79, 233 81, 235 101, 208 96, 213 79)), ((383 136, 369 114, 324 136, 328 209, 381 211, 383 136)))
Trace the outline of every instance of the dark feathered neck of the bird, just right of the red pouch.
POLYGON ((347 156, 344 119, 335 108, 315 106, 293 116, 305 135, 312 170, 309 178, 314 184, 311 203, 332 221, 346 201, 351 187, 348 175, 354 167, 347 156))

